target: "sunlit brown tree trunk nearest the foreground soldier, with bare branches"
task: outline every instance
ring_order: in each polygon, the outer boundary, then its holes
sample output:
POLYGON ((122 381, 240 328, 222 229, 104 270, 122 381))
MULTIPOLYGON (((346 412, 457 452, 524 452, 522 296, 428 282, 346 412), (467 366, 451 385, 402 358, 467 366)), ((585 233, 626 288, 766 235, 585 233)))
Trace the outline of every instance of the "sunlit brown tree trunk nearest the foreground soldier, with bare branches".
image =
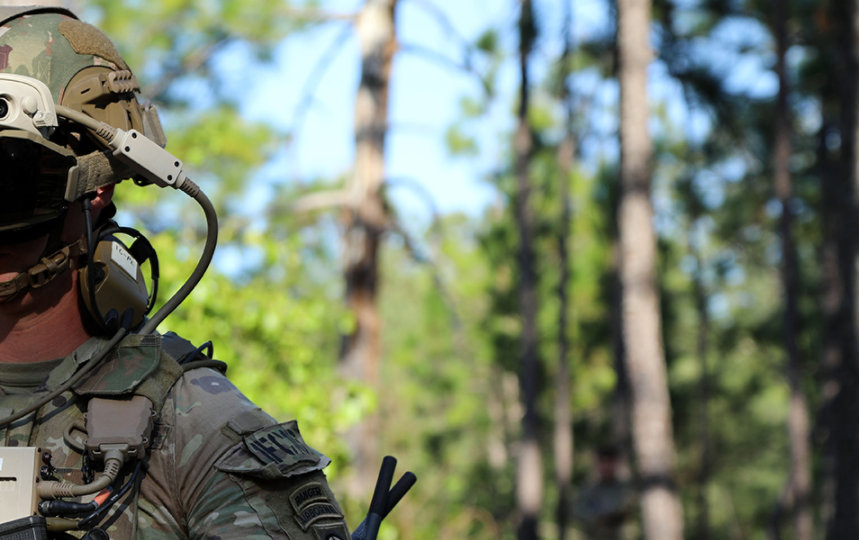
MULTIPOLYGON (((343 213, 346 304, 355 317, 340 352, 343 372, 378 388, 380 320, 377 305, 379 244, 388 222, 382 199, 388 87, 396 49, 396 0, 367 0, 356 21, 361 82, 355 98, 355 164, 343 213)), ((372 414, 352 433, 353 495, 372 490, 379 463, 379 419, 372 414)))

